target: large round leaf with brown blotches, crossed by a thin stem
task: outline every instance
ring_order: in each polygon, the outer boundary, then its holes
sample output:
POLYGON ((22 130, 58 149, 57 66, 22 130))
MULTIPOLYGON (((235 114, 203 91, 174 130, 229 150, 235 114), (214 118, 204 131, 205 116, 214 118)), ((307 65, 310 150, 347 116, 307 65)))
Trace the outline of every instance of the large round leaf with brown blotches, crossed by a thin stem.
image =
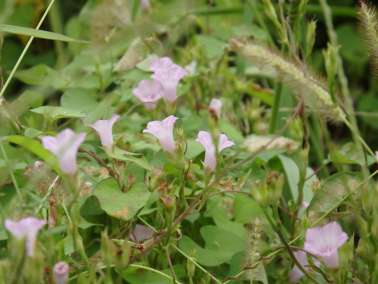
MULTIPOLYGON (((355 187, 361 183, 358 173, 342 172, 336 173, 325 179, 324 185, 319 189, 312 198, 310 205, 306 209, 308 222, 313 224, 335 206, 342 198, 350 193, 355 187)), ((340 220, 345 215, 362 208, 361 189, 357 189, 347 199, 334 209, 326 218, 321 220, 319 224, 340 220)))

